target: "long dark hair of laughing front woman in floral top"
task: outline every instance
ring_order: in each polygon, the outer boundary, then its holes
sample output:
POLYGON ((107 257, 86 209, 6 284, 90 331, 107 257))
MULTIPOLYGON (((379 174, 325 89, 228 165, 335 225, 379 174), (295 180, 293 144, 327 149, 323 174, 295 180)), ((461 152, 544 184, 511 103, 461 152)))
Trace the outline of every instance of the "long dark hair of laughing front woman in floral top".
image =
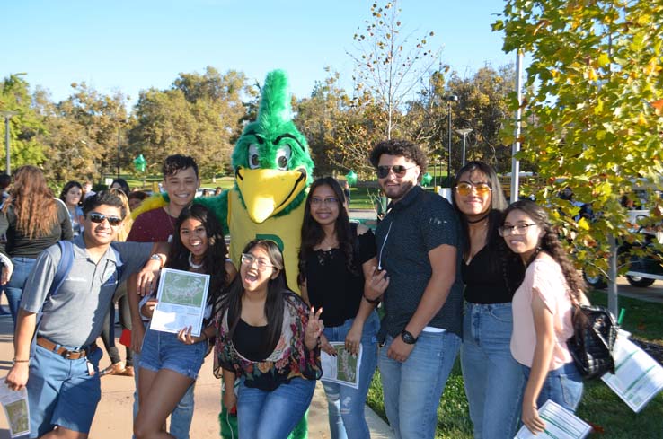
MULTIPOLYGON (((278 249, 274 241, 253 240, 246 244, 243 253, 248 253, 256 247, 260 247, 267 252, 270 258, 270 264, 278 269, 277 277, 268 281, 267 299, 265 300, 265 317, 267 319, 267 337, 261 341, 261 350, 271 352, 278 344, 278 338, 281 336, 281 326, 283 326, 283 310, 285 307, 284 299, 287 294, 292 294, 287 289, 286 268, 283 263, 283 254, 278 249)), ((242 297, 244 287, 242 285, 242 276, 234 278, 234 282, 228 288, 228 294, 225 295, 220 307, 221 315, 228 312, 228 336, 232 339, 234 329, 242 316, 242 297)))

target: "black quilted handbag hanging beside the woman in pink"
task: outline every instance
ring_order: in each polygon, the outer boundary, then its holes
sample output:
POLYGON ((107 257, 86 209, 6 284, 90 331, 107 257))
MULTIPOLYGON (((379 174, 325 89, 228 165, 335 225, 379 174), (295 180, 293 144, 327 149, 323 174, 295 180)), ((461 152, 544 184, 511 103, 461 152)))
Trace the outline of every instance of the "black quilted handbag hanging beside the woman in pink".
POLYGON ((614 373, 613 348, 617 338, 614 315, 603 306, 573 307, 573 337, 567 345, 579 373, 586 380, 614 373))

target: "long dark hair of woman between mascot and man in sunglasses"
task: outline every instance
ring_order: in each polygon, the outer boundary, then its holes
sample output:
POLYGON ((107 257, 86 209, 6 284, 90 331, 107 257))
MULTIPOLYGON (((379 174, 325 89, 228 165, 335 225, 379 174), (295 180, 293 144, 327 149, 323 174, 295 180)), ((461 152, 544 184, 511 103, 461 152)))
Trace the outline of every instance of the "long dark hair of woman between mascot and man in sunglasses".
POLYGON ((343 205, 345 194, 343 189, 340 188, 339 182, 333 177, 323 177, 315 180, 308 191, 306 197, 306 204, 304 207, 304 221, 302 222, 302 243, 299 247, 299 275, 297 276, 297 283, 303 284, 306 280, 306 259, 313 253, 314 247, 324 239, 323 227, 314 220, 311 215, 311 198, 316 188, 321 186, 329 186, 338 200, 339 216, 336 218, 334 224, 334 232, 336 239, 339 241, 339 248, 345 254, 345 260, 350 273, 355 274, 357 269, 354 268, 354 242, 357 236, 352 235, 352 227, 349 223, 348 211, 343 205))

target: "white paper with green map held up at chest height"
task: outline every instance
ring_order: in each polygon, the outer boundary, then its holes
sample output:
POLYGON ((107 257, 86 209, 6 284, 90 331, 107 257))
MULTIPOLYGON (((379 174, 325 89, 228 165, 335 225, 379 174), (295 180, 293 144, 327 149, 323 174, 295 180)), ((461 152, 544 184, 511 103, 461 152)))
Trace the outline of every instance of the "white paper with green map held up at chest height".
POLYGON ((177 334, 191 327, 191 335, 200 337, 208 288, 209 275, 162 268, 150 329, 177 334))

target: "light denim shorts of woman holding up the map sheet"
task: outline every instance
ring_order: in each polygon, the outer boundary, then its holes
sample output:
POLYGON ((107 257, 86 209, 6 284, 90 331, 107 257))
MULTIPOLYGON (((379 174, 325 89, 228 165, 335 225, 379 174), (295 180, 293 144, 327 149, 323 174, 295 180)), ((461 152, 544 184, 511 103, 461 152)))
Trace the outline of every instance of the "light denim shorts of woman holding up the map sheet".
POLYGON ((140 367, 154 372, 170 369, 195 380, 207 352, 207 343, 185 345, 177 334, 148 328, 140 351, 140 367))

